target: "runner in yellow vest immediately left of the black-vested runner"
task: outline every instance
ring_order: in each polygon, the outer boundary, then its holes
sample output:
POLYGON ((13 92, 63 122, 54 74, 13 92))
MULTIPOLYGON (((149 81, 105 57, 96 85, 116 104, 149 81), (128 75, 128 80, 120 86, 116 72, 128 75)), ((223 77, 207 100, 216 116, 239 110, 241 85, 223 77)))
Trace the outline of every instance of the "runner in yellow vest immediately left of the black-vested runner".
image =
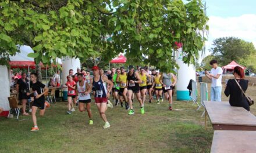
POLYGON ((129 104, 128 104, 128 99, 127 99, 127 74, 125 72, 125 68, 124 67, 120 67, 121 72, 118 74, 118 76, 116 77, 116 83, 119 84, 119 96, 120 96, 120 104, 121 107, 123 107, 123 99, 125 99, 125 108, 126 110, 129 109, 129 104), (123 99, 122 97, 123 96, 123 99))

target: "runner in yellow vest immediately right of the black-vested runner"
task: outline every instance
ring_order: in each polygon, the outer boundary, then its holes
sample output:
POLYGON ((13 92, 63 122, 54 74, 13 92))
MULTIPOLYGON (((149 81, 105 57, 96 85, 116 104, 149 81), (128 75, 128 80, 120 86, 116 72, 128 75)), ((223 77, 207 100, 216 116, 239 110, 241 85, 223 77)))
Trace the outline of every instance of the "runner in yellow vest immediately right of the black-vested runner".
POLYGON ((144 102, 146 100, 146 92, 148 90, 147 88, 147 77, 149 77, 151 79, 151 75, 147 74, 145 72, 145 68, 144 67, 141 67, 140 68, 140 79, 142 81, 142 83, 140 83, 140 93, 141 93, 141 97, 143 97, 142 99, 142 103, 143 103, 143 106, 144 106, 144 102))

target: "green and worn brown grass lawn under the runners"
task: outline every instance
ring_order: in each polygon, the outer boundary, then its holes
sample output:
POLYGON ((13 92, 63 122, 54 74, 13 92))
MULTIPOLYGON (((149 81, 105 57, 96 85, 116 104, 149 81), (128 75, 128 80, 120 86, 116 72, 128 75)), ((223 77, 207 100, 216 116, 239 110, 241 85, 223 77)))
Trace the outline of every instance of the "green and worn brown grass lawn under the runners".
MULTIPOLYGON (((255 87, 248 93, 256 98, 255 87), (252 94, 254 93, 254 95, 252 94)), ((174 97, 176 99, 176 97, 174 97)), ((223 97, 223 100, 228 100, 223 97)), ((111 128, 92 103, 94 125, 88 125, 86 112, 66 114, 66 103, 52 104, 45 116, 38 117, 38 132, 30 132, 31 116, 26 121, 0 118, 0 152, 209 152, 212 128, 204 130, 203 108, 186 101, 174 101, 168 111, 167 101, 145 103, 141 115, 137 101, 136 114, 127 115, 125 108, 114 107, 106 112, 111 128)), ((255 114, 253 105, 251 112, 255 114)))

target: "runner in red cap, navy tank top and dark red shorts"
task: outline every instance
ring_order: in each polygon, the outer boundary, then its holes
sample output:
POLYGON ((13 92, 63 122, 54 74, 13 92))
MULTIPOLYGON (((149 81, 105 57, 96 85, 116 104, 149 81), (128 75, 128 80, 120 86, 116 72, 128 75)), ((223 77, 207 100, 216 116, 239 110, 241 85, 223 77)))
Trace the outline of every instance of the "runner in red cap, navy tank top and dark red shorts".
POLYGON ((105 125, 102 128, 106 129, 110 127, 110 124, 106 119, 106 114, 105 114, 108 108, 106 106, 106 103, 108 101, 109 94, 113 88, 113 83, 112 81, 109 81, 108 77, 106 77, 105 75, 99 74, 99 68, 97 66, 94 66, 92 70, 93 70, 94 77, 93 77, 93 82, 91 82, 91 87, 93 86, 95 89, 95 94, 94 94, 95 103, 97 105, 101 118, 105 122, 105 125), (106 84, 109 85, 108 90, 106 89, 106 86, 107 86, 106 84))

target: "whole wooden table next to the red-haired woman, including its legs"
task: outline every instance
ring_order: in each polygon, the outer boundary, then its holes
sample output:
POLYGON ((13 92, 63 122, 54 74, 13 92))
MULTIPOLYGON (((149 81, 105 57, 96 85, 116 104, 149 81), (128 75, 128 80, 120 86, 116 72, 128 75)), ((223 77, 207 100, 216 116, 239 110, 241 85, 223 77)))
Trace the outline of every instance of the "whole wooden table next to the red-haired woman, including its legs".
POLYGON ((256 117, 243 107, 230 106, 228 101, 204 101, 205 128, 207 114, 214 130, 256 130, 256 117))

